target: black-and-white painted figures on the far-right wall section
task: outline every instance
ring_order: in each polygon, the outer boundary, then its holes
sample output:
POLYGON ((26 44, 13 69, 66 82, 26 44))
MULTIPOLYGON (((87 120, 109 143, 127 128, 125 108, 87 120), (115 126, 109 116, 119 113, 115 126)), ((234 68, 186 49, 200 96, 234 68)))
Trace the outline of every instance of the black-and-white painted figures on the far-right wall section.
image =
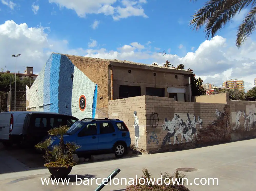
POLYGON ((235 123, 233 130, 238 130, 240 129, 240 126, 242 124, 240 123, 240 120, 243 119, 243 127, 244 131, 250 131, 250 130, 255 130, 256 129, 256 108, 255 105, 246 105, 246 110, 242 111, 239 110, 237 112, 232 112, 232 120, 233 117, 235 116, 235 120, 232 122, 235 123))

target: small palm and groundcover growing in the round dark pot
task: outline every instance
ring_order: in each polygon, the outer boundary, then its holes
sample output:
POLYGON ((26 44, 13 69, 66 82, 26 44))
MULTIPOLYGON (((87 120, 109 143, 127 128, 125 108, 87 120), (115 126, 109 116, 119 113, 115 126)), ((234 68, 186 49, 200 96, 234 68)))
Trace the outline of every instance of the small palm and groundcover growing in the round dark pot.
POLYGON ((45 164, 45 167, 70 167, 75 166, 76 162, 73 160, 72 154, 75 153, 75 151, 80 148, 79 145, 75 143, 64 143, 63 135, 67 132, 69 129, 68 126, 60 126, 58 128, 53 128, 48 131, 49 135, 57 136, 60 141, 58 145, 53 146, 53 150, 50 151, 48 149, 51 138, 46 139, 45 141, 38 143, 35 145, 37 149, 45 150, 44 159, 47 164, 45 164))

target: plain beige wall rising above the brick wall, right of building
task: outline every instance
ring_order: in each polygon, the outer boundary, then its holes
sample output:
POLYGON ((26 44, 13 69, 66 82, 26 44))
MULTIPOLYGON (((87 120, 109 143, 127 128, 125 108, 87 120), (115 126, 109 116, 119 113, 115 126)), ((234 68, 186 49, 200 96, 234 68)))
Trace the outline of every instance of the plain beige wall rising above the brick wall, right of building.
POLYGON ((197 103, 227 104, 228 101, 228 93, 196 96, 197 103))

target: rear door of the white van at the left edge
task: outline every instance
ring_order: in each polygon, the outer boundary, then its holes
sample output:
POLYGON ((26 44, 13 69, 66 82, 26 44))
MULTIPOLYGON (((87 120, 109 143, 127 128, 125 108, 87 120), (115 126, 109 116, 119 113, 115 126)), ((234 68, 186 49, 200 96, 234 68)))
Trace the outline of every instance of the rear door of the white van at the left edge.
POLYGON ((9 139, 11 114, 11 112, 0 113, 0 140, 9 139))

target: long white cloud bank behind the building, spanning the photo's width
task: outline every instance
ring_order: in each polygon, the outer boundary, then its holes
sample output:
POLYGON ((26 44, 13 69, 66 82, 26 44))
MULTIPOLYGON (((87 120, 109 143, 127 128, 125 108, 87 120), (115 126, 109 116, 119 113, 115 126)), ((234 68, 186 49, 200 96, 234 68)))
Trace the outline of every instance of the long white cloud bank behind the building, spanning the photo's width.
MULTIPOLYGON (((138 42, 124 44, 117 50, 107 48, 92 49, 97 46, 96 40, 91 40, 89 49, 77 47, 70 49, 68 41, 64 39, 50 39, 44 31, 45 28, 29 28, 26 23, 16 24, 6 21, 0 24, 0 57, 5 62, 0 62, 0 68, 13 71, 15 60, 13 54, 21 54, 17 59, 17 71, 24 71, 23 66, 34 67, 34 73, 40 72, 52 52, 63 54, 88 56, 94 58, 120 59, 151 64, 165 62, 161 53, 150 52, 142 49, 144 45, 138 42), (129 45, 130 44, 130 45, 129 45), (139 45, 139 48, 136 46, 139 45), (36 63, 36 64, 35 64, 36 63)), ((243 79, 245 88, 253 85, 256 77, 256 42, 248 39, 240 49, 228 46, 227 39, 216 36, 206 40, 194 52, 188 52, 184 57, 168 53, 167 59, 172 65, 182 62, 185 68, 191 68, 204 82, 221 85, 226 79, 243 79)))

